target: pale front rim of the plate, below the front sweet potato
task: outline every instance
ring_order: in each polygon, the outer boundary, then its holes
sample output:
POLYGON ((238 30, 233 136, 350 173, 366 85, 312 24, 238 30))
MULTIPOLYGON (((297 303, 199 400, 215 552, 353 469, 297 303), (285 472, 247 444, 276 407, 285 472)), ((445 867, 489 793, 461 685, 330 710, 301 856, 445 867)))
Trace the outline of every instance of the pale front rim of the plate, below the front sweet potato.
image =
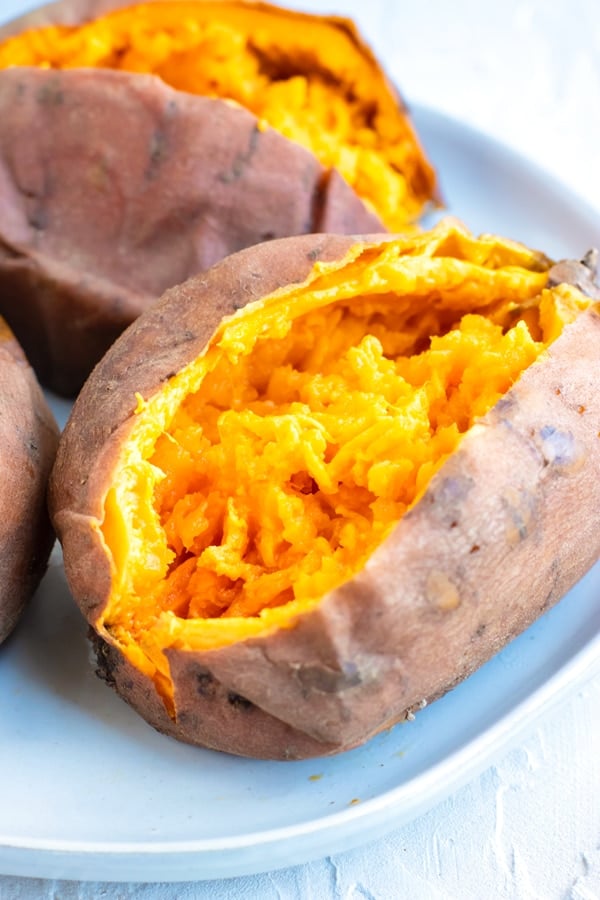
POLYGON ((443 760, 397 787, 329 815, 227 838, 115 844, 0 840, 0 872, 88 882, 178 883, 255 875, 353 850, 444 802, 485 771, 493 759, 505 755, 577 686, 599 675, 600 632, 550 678, 443 760), (324 849, 325 837, 328 846, 324 849), (37 857, 35 862, 32 855, 37 857))

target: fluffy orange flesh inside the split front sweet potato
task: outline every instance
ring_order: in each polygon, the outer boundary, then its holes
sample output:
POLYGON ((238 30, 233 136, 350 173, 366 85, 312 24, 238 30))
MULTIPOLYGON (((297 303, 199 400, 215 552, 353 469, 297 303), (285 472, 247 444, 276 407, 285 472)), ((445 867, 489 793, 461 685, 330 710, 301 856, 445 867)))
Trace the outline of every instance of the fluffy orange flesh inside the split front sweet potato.
POLYGON ((357 246, 139 398, 99 526, 99 625, 167 702, 166 648, 292 627, 365 566, 585 305, 546 282, 533 253, 443 229, 357 246))

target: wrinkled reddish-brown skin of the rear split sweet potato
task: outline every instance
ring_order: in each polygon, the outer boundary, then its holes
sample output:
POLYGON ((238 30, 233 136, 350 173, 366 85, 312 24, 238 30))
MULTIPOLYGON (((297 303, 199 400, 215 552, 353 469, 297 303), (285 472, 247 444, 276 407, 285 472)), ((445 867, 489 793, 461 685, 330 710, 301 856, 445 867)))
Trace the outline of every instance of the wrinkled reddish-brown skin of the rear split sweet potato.
POLYGON ((0 315, 67 396, 144 308, 227 254, 382 227, 299 144, 151 75, 7 69, 0 121, 0 315))

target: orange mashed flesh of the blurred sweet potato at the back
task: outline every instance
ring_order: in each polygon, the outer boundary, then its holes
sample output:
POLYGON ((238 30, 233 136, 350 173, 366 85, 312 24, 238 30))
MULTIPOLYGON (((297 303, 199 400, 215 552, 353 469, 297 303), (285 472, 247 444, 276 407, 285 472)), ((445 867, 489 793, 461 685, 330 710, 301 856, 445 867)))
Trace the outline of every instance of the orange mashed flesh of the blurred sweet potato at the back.
POLYGON ((372 58, 318 17, 241 3, 117 10, 0 44, 0 68, 111 68, 235 101, 336 167, 390 230, 418 217, 433 173, 372 58))

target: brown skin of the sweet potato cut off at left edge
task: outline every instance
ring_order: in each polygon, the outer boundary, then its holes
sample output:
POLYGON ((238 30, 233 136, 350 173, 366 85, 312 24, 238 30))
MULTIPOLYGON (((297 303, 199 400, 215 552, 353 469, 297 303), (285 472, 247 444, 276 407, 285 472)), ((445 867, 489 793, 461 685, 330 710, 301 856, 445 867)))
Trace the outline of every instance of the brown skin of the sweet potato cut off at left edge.
POLYGON ((46 486, 58 428, 23 351, 0 320, 0 643, 46 570, 46 486))

